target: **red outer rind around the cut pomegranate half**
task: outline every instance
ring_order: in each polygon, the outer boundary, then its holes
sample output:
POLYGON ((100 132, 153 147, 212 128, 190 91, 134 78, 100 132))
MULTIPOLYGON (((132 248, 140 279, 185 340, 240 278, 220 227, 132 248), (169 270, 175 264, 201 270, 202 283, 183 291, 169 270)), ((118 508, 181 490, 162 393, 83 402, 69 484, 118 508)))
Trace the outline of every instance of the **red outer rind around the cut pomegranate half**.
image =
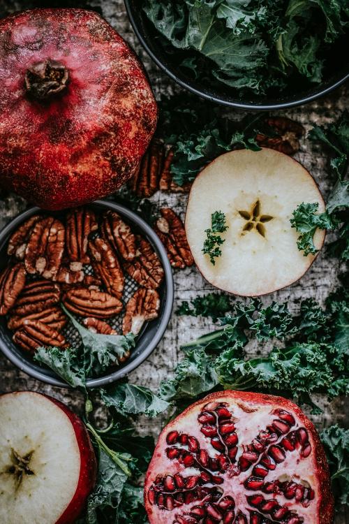
MULTIPOLYGON (((184 410, 184 412, 182 412, 179 416, 176 417, 176 419, 174 419, 167 426, 165 426, 165 428, 161 432, 144 481, 144 507, 147 511, 149 523, 172 524, 175 521, 174 513, 171 512, 170 514, 170 512, 166 510, 164 510, 163 516, 161 516, 161 520, 159 520, 158 516, 154 514, 153 506, 149 502, 148 498, 149 488, 151 488, 151 486, 153 485, 156 476, 158 474, 166 474, 165 463, 166 460, 168 460, 165 456, 164 449, 168 448, 166 437, 168 436, 169 432, 173 432, 174 430, 176 430, 176 426, 178 425, 178 423, 186 419, 186 417, 188 417, 188 415, 190 415, 191 412, 193 412, 193 409, 195 409, 195 407, 204 407, 209 402, 219 402, 221 399, 222 401, 223 399, 225 401, 232 400, 233 402, 237 403, 244 402, 244 404, 248 405, 248 407, 251 408, 251 412, 254 411, 254 405, 270 405, 271 407, 275 407, 277 405, 278 408, 291 412, 292 414, 295 414, 297 416, 299 421, 302 423, 302 426, 306 428, 306 430, 308 431, 310 437, 309 440, 311 440, 311 443, 313 444, 312 453, 315 457, 316 463, 315 476, 318 479, 319 488, 316 515, 314 515, 314 518, 311 519, 311 521, 304 524, 332 524, 334 517, 334 499, 331 491, 329 467, 327 463, 327 458, 325 456, 325 451, 320 442, 320 437, 318 436, 318 433, 316 432, 313 423, 311 423, 311 421, 304 415, 302 409, 300 409, 290 400, 285 399, 283 397, 265 395, 261 393, 251 393, 246 391, 228 390, 218 391, 217 393, 211 393, 202 400, 199 400, 198 402, 195 402, 191 406, 187 407, 184 410), (161 463, 161 465, 158 465, 158 463, 161 463)), ((183 430, 183 428, 181 428, 181 430, 183 430)), ((188 424, 188 427, 185 428, 185 430, 186 432, 188 432, 188 435, 191 435, 191 430, 193 430, 193 421, 191 421, 191 423, 188 424)), ((179 473, 183 472, 183 469, 179 471, 179 473)), ((253 495, 253 492, 249 492, 248 494, 253 495)), ((198 502, 198 504, 200 504, 200 502, 198 502)), ((180 509, 184 509, 184 507, 179 507, 179 510, 180 509)), ((178 513, 180 514, 180 511, 178 511, 178 513)), ((193 519, 193 521, 194 520, 195 519, 193 519)), ((211 520, 212 522, 214 522, 213 519, 211 520)))

